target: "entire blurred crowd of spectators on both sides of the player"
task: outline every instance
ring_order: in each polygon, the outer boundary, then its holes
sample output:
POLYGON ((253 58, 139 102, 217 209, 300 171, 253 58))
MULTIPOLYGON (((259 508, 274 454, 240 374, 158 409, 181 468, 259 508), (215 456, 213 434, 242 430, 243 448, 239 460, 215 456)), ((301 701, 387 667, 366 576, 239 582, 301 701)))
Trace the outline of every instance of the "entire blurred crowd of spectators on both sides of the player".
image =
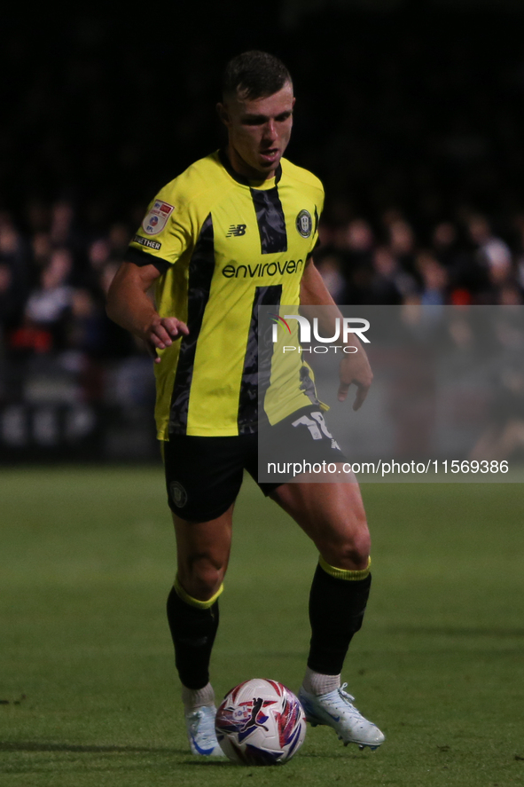
MULTIPOLYGON (((105 297, 129 243, 130 224, 115 222, 89 237, 74 205, 34 203, 20 232, 13 216, 0 214, 0 319, 9 358, 79 350, 93 359, 139 351, 113 325, 105 297)), ((421 243, 397 209, 379 226, 364 217, 321 224, 316 262, 337 303, 524 303, 524 216, 514 220, 511 241, 494 231, 488 216, 462 224, 435 224, 421 243)))

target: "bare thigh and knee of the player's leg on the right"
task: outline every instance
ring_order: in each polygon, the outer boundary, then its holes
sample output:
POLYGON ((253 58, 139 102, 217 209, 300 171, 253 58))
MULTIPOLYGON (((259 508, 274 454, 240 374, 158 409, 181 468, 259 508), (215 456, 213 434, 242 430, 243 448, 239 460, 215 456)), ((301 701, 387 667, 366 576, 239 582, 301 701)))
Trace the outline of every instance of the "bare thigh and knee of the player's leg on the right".
POLYGON ((337 484, 289 482, 270 497, 301 526, 327 563, 350 571, 366 568, 371 539, 356 479, 337 484))

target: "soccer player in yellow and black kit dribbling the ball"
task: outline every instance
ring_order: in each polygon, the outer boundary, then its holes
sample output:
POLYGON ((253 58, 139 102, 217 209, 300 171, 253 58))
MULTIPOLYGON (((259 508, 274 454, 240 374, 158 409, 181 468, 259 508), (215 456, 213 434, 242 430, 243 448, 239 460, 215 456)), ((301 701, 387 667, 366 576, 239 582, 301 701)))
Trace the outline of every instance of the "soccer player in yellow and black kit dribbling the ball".
MULTIPOLYGON (((108 294, 109 316, 141 338, 155 361, 155 415, 177 549, 168 622, 190 747, 201 755, 222 753, 209 661, 234 502, 243 470, 257 476, 257 307, 333 306, 311 256, 322 185, 283 158, 294 101, 291 76, 279 59, 250 51, 230 61, 217 106, 227 146, 160 190, 108 294)), ((357 409, 371 384, 364 350, 342 361, 340 399, 351 384, 357 409)), ((267 414, 269 429, 293 444, 302 413, 322 419, 307 367, 287 398, 291 412, 267 414)), ((309 429, 301 431, 315 461, 344 460, 320 430, 315 440, 309 429)), ((384 736, 358 712, 346 684, 340 686, 371 585, 370 536, 353 482, 259 485, 320 554, 299 695, 307 719, 334 728, 344 744, 373 749, 384 736)))

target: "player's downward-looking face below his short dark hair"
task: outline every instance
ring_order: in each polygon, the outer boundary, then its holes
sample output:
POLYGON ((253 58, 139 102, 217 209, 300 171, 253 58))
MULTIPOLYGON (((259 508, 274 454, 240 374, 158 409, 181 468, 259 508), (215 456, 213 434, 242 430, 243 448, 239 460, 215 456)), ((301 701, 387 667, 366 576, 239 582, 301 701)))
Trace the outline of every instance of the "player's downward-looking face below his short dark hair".
POLYGON ((291 136, 293 85, 264 98, 230 97, 218 105, 233 169, 253 179, 273 177, 291 136))

